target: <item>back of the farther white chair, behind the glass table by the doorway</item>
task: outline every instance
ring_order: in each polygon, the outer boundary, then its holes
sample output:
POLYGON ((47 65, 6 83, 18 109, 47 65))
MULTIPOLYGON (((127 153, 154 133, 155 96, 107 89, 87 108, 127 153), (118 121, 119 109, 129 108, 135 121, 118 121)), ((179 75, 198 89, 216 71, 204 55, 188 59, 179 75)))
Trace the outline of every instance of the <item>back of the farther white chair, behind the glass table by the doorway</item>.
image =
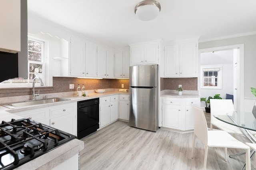
MULTIPOLYGON (((211 123, 220 121, 213 116, 215 112, 235 111, 232 99, 210 99, 210 106, 211 106, 211 123)), ((226 115, 225 112, 223 112, 223 114, 226 115)))

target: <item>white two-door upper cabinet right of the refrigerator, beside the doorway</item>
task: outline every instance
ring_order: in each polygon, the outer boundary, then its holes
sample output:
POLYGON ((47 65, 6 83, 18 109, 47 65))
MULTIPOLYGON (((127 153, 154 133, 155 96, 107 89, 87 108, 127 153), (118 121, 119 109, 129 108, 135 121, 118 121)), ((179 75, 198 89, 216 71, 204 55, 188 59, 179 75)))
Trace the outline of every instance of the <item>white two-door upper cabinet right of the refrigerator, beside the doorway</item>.
POLYGON ((198 41, 164 47, 164 77, 197 77, 198 41))

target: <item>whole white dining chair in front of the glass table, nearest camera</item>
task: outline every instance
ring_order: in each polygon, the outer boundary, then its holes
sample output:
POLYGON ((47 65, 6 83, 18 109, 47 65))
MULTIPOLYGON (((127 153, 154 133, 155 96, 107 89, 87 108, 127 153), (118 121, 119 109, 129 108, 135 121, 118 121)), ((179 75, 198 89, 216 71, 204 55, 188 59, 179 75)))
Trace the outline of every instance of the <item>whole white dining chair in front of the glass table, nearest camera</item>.
POLYGON ((250 147, 232 137, 226 131, 208 131, 204 111, 196 106, 192 106, 194 115, 194 136, 192 144, 192 158, 194 152, 195 139, 198 137, 204 144, 204 170, 206 169, 208 147, 225 148, 225 161, 227 161, 227 148, 245 149, 246 150, 246 170, 251 169, 250 147))

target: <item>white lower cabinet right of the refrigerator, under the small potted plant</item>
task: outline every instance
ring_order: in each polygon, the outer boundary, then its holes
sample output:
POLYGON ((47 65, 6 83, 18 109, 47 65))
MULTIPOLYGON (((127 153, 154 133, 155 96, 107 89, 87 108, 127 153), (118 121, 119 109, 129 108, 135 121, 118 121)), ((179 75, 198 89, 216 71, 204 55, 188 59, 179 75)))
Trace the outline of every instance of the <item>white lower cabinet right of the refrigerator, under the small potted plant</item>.
POLYGON ((200 98, 161 98, 162 127, 181 131, 194 129, 191 106, 200 106, 200 98))

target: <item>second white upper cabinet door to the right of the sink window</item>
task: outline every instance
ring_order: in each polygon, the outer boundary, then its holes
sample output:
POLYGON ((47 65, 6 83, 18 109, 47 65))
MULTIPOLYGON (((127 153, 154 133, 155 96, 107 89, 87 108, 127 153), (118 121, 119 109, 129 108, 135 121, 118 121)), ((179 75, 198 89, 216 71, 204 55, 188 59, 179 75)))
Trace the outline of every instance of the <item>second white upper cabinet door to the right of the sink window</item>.
POLYGON ((85 57, 86 77, 97 77, 97 46, 86 43, 85 57))

